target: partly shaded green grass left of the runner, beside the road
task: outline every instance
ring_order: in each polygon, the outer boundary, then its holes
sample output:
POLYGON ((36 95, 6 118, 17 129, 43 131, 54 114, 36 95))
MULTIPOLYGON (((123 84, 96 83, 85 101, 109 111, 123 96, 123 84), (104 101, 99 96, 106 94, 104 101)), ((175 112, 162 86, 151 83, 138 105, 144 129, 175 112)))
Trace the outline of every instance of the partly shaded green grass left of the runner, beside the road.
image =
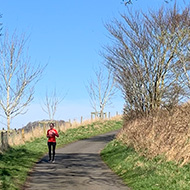
POLYGON ((33 164, 46 150, 45 138, 10 148, 0 155, 2 189, 19 189, 33 164))

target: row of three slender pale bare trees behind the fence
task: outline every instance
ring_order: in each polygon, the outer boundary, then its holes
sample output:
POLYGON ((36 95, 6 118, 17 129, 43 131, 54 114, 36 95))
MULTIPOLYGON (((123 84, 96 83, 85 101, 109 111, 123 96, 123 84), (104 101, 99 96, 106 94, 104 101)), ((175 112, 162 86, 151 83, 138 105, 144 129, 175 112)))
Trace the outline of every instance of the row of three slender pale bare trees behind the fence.
MULTIPOLYGON (((40 80, 45 66, 32 65, 25 51, 25 36, 8 33, 1 37, 0 44, 0 117, 6 120, 7 130, 10 131, 11 119, 26 113, 26 107, 34 99, 34 87, 40 80)), ((87 87, 92 108, 103 115, 105 106, 115 94, 115 80, 108 72, 100 69, 95 72, 97 81, 90 81, 87 87)), ((54 120, 58 105, 65 96, 57 95, 57 90, 46 91, 41 108, 54 120)))

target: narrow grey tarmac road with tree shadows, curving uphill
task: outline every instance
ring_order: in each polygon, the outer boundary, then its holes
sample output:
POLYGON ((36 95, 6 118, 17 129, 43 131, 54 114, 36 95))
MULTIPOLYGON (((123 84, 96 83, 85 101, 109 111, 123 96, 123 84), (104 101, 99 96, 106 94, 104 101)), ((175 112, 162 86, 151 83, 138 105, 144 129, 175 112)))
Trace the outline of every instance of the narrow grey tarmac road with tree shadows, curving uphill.
POLYGON ((34 167, 24 190, 129 190, 100 157, 100 151, 116 133, 56 149, 55 163, 48 163, 46 155, 34 167))

